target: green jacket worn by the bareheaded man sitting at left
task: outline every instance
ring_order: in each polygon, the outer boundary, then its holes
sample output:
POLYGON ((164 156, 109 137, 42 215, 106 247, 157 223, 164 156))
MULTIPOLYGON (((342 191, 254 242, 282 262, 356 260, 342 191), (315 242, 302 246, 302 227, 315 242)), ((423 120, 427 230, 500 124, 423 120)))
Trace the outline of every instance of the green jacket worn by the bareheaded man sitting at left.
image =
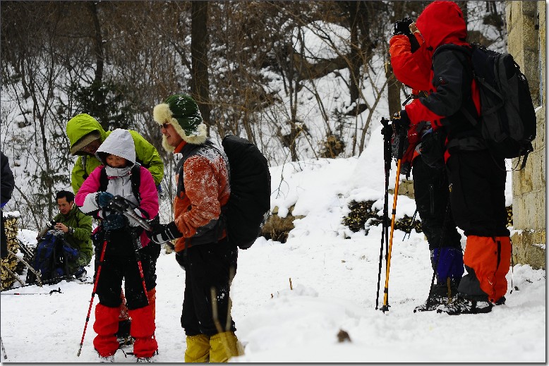
POLYGON ((92 257, 92 216, 84 214, 78 206, 73 205, 68 214, 60 212, 54 217, 54 221, 73 228, 74 233, 66 233, 65 240, 71 247, 78 249, 78 252, 85 253, 88 258, 92 257))

